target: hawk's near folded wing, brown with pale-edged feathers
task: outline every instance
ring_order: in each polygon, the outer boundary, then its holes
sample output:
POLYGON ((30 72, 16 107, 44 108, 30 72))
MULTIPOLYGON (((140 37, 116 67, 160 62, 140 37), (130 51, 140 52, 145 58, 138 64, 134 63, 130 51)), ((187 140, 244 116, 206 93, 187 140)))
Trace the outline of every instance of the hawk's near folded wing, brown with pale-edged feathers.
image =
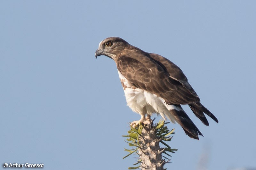
POLYGON ((117 69, 132 85, 162 97, 167 104, 184 105, 200 101, 198 96, 183 84, 187 78, 179 67, 175 65, 176 68, 173 68, 174 71, 178 70, 175 78, 172 78, 164 64, 150 55, 142 52, 122 55, 116 61, 117 69), (182 81, 179 81, 179 76, 182 81))

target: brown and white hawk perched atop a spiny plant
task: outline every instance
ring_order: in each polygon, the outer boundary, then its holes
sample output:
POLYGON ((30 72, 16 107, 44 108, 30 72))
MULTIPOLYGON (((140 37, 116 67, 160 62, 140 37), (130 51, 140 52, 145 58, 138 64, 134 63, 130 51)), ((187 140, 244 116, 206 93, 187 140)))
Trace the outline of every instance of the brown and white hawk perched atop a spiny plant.
POLYGON ((139 121, 131 123, 132 126, 140 122, 150 124, 150 116, 156 113, 173 123, 178 122, 189 137, 199 140, 198 135, 203 134, 181 105, 188 105, 207 126, 204 113, 218 123, 218 119, 201 104, 182 70, 167 58, 142 51, 119 37, 101 41, 95 57, 100 55, 115 61, 127 105, 141 115, 139 121))

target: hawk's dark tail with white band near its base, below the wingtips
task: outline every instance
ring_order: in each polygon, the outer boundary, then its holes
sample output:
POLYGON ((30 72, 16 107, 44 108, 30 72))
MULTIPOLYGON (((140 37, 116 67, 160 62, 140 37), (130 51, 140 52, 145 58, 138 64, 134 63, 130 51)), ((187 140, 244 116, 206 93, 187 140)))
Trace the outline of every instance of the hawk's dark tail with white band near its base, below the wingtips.
POLYGON ((170 105, 172 106, 169 111, 175 117, 176 122, 180 124, 185 133, 194 139, 199 140, 198 135, 203 136, 203 134, 199 131, 196 125, 192 122, 192 120, 188 117, 186 112, 182 109, 180 105, 170 105))

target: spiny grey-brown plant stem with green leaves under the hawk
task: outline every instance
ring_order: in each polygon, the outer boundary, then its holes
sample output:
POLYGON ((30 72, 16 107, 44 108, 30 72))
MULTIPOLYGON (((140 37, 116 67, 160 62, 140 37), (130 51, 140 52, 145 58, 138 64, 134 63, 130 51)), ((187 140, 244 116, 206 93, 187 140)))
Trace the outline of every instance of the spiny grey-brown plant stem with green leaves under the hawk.
MULTIPOLYGON (((144 127, 142 124, 138 125, 136 128, 132 128, 128 131, 128 135, 123 137, 128 137, 126 142, 132 149, 124 149, 129 152, 124 158, 135 153, 140 156, 140 159, 128 169, 141 169, 141 170, 164 170, 164 164, 170 161, 170 152, 175 153, 177 149, 172 149, 166 141, 171 141, 172 137, 170 135, 174 134, 174 129, 169 130, 165 124, 169 122, 159 121, 152 127, 144 127), (163 144, 164 147, 160 147, 159 143, 163 144), (162 154, 165 154, 162 155, 162 154), (165 161, 167 160, 167 161, 165 161)), ((123 159, 124 159, 123 158, 123 159)))

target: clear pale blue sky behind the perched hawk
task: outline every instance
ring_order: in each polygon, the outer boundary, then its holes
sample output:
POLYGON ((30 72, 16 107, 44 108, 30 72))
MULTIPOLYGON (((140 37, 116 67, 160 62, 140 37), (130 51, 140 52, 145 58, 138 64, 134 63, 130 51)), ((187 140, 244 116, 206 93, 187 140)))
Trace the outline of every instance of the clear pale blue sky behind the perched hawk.
MULTIPOLYGON (((167 169, 256 167, 255 1, 1 1, 0 164, 127 169, 126 106, 113 60, 118 36, 176 63, 219 119, 189 138, 178 124, 167 169)), ((157 118, 158 121, 160 118, 157 118)), ((134 155, 135 157, 135 155, 134 155)), ((1 167, 3 168, 3 167, 1 167)))

